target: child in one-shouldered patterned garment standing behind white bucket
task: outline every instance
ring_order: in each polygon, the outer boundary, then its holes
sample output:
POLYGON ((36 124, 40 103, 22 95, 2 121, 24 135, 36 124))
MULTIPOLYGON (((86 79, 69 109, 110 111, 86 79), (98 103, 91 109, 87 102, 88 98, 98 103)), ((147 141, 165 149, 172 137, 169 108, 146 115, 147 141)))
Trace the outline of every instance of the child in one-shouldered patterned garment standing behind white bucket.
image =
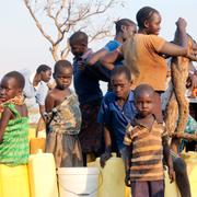
POLYGON ((77 95, 69 89, 72 66, 67 60, 57 61, 54 79, 56 88, 46 97, 47 142, 46 152, 55 155, 57 167, 82 166, 78 139, 81 113, 77 95))

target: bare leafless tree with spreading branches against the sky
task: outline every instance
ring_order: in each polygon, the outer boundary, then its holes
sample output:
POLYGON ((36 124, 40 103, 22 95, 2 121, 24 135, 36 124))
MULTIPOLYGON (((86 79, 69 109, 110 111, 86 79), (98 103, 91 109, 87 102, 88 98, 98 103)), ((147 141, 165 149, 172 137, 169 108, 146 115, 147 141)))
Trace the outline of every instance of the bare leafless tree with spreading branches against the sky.
POLYGON ((68 36, 79 30, 90 42, 112 35, 108 10, 119 0, 23 0, 42 35, 50 43, 55 61, 66 59, 70 48, 68 36))

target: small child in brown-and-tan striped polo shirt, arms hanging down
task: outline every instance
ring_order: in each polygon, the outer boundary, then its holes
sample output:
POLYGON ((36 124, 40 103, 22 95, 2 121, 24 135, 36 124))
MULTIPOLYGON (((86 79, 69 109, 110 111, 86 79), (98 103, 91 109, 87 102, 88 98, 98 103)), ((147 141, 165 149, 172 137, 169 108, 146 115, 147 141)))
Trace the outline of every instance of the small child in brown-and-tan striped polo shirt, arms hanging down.
POLYGON ((175 178, 167 132, 153 115, 154 94, 148 84, 135 89, 137 115, 124 138, 129 154, 126 184, 131 186, 132 197, 164 197, 163 157, 171 182, 175 178))

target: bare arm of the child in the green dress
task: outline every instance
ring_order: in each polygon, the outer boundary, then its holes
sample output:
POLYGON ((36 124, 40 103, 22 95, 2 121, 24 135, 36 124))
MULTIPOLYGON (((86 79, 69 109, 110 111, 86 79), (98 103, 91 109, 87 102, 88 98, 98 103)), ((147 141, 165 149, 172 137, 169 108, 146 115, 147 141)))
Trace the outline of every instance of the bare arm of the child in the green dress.
POLYGON ((5 107, 0 119, 0 143, 2 143, 3 134, 11 116, 12 116, 12 113, 10 112, 9 108, 5 107))

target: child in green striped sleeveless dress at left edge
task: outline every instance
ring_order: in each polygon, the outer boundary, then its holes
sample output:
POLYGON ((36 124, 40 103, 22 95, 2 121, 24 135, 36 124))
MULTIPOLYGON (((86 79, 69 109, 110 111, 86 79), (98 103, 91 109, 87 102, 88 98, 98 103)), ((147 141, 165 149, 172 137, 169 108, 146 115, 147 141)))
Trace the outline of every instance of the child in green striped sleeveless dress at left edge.
POLYGON ((21 165, 28 160, 28 117, 20 72, 7 73, 1 80, 0 164, 21 165))

